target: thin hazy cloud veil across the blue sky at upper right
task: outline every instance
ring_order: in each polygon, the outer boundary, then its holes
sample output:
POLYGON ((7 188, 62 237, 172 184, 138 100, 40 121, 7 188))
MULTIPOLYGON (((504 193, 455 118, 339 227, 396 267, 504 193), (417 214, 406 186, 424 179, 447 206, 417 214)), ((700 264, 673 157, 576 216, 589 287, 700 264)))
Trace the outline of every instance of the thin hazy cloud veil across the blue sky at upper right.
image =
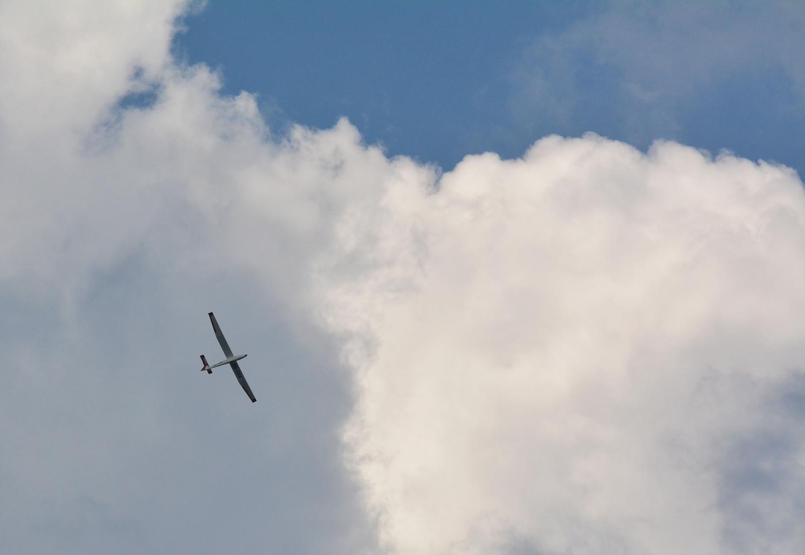
MULTIPOLYGON (((540 36, 512 72, 526 128, 676 138, 799 164, 801 2, 607 2, 540 36), (773 144, 777 151, 769 152, 773 144)), ((801 171, 801 166, 800 171, 801 171)))

